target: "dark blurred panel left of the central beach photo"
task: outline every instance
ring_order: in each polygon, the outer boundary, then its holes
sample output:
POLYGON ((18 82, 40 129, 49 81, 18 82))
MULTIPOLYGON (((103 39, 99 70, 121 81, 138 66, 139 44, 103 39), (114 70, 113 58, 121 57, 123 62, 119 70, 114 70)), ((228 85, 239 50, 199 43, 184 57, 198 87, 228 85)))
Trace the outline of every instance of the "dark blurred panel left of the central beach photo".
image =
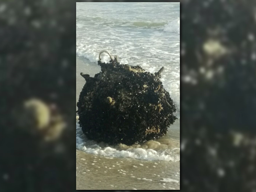
POLYGON ((0 191, 75 189, 75 3, 0 1, 0 191))

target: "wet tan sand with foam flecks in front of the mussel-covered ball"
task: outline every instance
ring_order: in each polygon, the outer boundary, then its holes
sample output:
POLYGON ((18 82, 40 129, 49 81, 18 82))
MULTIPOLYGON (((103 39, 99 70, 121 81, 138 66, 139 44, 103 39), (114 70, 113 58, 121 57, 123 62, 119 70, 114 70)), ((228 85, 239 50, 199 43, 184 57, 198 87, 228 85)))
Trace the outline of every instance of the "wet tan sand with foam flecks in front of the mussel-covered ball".
POLYGON ((80 150, 76 158, 77 190, 180 189, 180 162, 105 158, 80 150))

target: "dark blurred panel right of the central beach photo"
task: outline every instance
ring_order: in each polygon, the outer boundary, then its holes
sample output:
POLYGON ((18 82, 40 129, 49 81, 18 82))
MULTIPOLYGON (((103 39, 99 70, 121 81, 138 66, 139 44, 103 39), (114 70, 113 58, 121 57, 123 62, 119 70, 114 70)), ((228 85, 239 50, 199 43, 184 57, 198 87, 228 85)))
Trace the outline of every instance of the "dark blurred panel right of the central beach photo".
POLYGON ((181 5, 181 189, 255 192, 256 1, 181 5))

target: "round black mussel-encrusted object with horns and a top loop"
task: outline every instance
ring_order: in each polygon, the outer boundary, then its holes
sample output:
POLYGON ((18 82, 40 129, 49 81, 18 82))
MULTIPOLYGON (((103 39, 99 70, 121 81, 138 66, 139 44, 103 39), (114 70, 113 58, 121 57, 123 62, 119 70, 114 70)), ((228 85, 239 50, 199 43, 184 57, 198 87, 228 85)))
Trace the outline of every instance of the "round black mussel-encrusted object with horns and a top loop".
POLYGON ((86 83, 77 112, 83 133, 112 145, 133 145, 165 135, 175 122, 176 110, 159 79, 163 68, 152 74, 140 66, 121 65, 110 54, 110 62, 103 63, 100 55, 100 73, 94 78, 81 73, 86 83))

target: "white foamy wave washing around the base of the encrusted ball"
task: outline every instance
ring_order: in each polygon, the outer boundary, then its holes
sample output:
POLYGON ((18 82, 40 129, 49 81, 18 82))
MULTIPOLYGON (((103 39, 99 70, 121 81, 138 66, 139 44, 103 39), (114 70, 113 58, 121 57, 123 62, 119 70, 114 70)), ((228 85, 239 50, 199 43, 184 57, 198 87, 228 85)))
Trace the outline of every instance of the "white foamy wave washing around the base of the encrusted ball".
POLYGON ((173 140, 168 139, 161 143, 157 141, 148 141, 144 146, 126 146, 124 144, 109 146, 103 142, 97 143, 93 140, 87 139, 87 137, 82 133, 79 124, 76 124, 76 148, 94 155, 118 158, 136 158, 149 161, 162 160, 176 162, 180 161, 180 148, 179 146, 173 147, 174 145, 175 143, 173 143, 173 140), (160 147, 165 149, 157 149, 160 147))

